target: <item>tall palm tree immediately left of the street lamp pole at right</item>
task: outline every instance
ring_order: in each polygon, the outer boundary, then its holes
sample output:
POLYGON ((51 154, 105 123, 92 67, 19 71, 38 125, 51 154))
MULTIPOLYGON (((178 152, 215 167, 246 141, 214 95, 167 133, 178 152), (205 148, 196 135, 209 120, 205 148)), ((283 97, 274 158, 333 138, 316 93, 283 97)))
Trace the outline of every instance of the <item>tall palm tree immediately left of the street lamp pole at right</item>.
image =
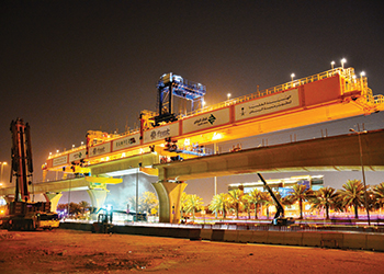
POLYGON ((345 207, 354 207, 354 218, 359 219, 359 207, 364 205, 364 185, 360 180, 348 180, 342 185, 343 190, 339 190, 337 193, 345 207))

